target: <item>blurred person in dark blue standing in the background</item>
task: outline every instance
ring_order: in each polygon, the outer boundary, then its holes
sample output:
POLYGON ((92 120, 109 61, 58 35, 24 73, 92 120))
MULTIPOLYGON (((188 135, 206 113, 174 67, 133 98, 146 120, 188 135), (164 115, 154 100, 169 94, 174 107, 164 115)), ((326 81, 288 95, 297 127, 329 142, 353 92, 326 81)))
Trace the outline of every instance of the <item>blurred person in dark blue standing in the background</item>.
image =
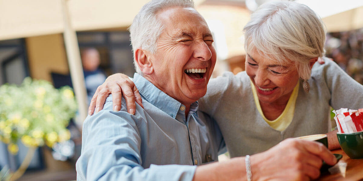
POLYGON ((93 94, 97 90, 97 87, 106 80, 106 76, 99 68, 100 56, 97 49, 87 48, 82 50, 81 59, 83 74, 85 76, 87 98, 88 102, 90 103, 93 94))

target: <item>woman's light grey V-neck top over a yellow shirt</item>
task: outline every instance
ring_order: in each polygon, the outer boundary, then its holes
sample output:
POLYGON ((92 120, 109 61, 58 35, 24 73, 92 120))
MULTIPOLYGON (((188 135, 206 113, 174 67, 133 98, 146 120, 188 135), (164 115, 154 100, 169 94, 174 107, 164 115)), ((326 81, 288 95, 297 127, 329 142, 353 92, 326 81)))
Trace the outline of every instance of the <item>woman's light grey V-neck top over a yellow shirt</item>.
POLYGON ((293 121, 282 132, 264 121, 256 108, 246 72, 211 79, 207 94, 199 100, 201 111, 216 119, 231 157, 259 153, 291 137, 331 131, 330 106, 363 108, 363 85, 335 62, 315 63, 309 79, 310 92, 299 84, 293 121))

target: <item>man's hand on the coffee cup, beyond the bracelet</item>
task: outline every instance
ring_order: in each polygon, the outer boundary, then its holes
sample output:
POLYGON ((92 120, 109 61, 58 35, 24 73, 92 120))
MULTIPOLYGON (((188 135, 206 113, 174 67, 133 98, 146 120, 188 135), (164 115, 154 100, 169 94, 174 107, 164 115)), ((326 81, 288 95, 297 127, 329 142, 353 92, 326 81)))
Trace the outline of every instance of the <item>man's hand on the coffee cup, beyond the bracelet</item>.
POLYGON ((323 144, 290 138, 252 155, 252 175, 257 180, 315 180, 320 176, 322 160, 329 165, 337 163, 323 144))

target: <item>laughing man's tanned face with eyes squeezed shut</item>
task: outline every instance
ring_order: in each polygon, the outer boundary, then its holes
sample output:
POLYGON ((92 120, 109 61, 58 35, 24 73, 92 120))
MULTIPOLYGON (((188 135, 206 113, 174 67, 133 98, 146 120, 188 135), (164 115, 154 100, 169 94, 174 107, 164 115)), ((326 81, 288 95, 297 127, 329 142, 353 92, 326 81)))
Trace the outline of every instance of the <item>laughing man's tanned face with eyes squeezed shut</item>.
POLYGON ((164 31, 156 53, 150 57, 154 67, 151 79, 169 96, 191 104, 207 92, 216 63, 212 33, 204 18, 192 8, 168 8, 158 15, 164 31))

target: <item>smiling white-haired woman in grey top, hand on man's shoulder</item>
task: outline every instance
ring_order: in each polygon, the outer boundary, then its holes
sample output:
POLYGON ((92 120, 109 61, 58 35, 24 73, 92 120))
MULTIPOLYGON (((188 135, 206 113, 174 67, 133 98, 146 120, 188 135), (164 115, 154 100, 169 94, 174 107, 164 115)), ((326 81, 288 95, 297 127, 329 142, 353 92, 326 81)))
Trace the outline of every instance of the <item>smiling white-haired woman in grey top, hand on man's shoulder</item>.
MULTIPOLYGON (((200 110, 216 119, 232 157, 268 150, 286 138, 330 132, 330 106, 363 107, 362 85, 331 60, 315 63, 324 55, 323 26, 313 10, 292 1, 265 3, 252 14, 244 28, 246 71, 211 79, 199 100, 200 110)), ((97 112, 111 92, 119 109, 120 87, 133 113, 130 102, 141 104, 134 84, 119 74, 109 81, 95 93, 90 113, 95 100, 97 112)), ((330 149, 339 146, 335 132, 327 134, 330 149)))

